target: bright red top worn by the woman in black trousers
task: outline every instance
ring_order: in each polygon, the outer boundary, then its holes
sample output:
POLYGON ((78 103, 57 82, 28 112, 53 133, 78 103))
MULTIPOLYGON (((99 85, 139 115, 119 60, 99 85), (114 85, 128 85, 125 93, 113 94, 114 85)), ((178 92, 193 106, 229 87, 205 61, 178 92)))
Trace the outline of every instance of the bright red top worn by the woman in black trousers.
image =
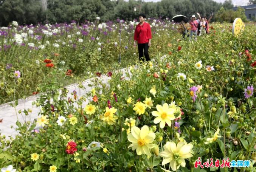
POLYGON ((137 40, 138 43, 148 43, 149 39, 152 39, 149 23, 138 24, 135 28, 134 40, 137 40))

